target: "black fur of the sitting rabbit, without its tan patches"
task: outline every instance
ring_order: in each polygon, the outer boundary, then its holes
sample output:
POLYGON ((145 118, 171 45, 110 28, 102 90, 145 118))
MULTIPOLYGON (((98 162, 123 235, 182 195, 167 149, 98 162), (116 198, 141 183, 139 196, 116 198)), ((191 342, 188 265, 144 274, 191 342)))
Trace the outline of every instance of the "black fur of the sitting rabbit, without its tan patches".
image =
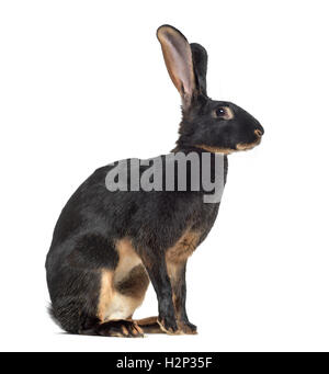
MULTIPOLYGON (((159 32, 170 32, 170 37, 179 42, 178 47, 188 43, 171 26, 162 26, 159 32)), ((263 133, 259 122, 232 103, 207 97, 207 54, 198 44, 191 45, 191 53, 195 87, 191 97, 184 87, 181 88, 183 118, 173 152, 194 151, 201 157, 206 151, 202 146, 230 152, 237 150, 239 144, 257 141, 259 136, 254 131, 263 133), (214 113, 222 106, 229 107, 234 117, 215 116, 214 113)), ((184 52, 181 55, 184 56, 184 52)), ((212 157, 214 160, 214 155, 212 157)), ((129 238, 156 290, 161 326, 174 332, 182 324, 195 331, 185 310, 186 262, 180 263, 179 276, 170 279, 166 252, 178 242, 186 228, 201 233, 197 245, 202 242, 216 219, 219 203, 205 204, 205 191, 191 191, 189 184, 185 192, 177 189, 110 192, 105 178, 111 168, 113 166, 100 168, 89 177, 58 218, 46 260, 54 318, 65 330, 73 333, 111 335, 120 329, 117 324, 102 324, 98 317, 100 271, 116 269, 118 253, 115 243, 122 238, 129 238)), ((226 178, 226 156, 224 168, 226 178)), ((217 172, 212 162, 212 174, 217 172)), ((129 282, 122 285, 126 293, 129 292, 129 282)))

